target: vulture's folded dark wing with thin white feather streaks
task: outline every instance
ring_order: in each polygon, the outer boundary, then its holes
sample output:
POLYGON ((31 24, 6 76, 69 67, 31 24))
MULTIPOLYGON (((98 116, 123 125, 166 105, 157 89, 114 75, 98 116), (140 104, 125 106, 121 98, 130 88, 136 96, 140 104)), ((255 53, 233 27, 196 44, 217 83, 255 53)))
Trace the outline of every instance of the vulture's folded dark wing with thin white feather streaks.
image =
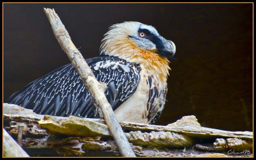
MULTIPOLYGON (((114 56, 86 60, 98 81, 107 85, 105 96, 113 110, 127 100, 140 82, 140 66, 114 56)), ((32 109, 38 114, 99 117, 89 91, 72 64, 35 80, 14 93, 8 103, 32 109)))

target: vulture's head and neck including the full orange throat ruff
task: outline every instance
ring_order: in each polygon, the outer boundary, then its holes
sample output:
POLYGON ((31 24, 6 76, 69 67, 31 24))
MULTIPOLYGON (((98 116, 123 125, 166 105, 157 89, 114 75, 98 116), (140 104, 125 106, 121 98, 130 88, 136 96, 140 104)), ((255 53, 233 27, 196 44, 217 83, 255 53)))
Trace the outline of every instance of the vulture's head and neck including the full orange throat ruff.
POLYGON ((169 75, 168 58, 174 59, 175 51, 174 43, 161 37, 154 27, 132 21, 111 26, 100 46, 101 55, 140 63, 163 82, 169 75))

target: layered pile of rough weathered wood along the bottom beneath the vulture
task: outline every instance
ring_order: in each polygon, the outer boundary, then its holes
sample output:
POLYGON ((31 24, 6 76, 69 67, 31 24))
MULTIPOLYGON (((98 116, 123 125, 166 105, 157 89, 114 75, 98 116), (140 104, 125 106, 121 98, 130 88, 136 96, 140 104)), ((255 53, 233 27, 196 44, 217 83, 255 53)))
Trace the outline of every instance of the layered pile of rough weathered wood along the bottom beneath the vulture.
MULTIPOLYGON (((32 110, 6 103, 3 105, 3 111, 4 128, 13 137, 17 136, 18 125, 24 125, 22 147, 31 156, 120 156, 103 120, 74 116, 42 116, 33 113, 32 110)), ((122 127, 129 142, 132 143, 136 156, 252 156, 252 132, 204 128, 195 116, 185 116, 168 126, 122 122, 122 127), (209 141, 212 143, 205 144, 209 141), (196 144, 198 142, 200 144, 196 144), (230 149, 235 152, 247 152, 228 154, 230 149)))

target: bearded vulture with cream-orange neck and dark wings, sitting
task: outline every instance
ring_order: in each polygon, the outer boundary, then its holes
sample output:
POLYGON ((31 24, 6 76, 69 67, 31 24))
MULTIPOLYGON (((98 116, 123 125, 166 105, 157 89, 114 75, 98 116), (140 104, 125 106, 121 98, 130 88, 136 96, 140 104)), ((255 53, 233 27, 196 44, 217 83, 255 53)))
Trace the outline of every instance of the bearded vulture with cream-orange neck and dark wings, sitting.
MULTIPOLYGON (((109 27, 99 56, 86 62, 96 79, 106 84, 105 96, 118 121, 154 124, 159 119, 175 51, 175 44, 151 25, 125 21, 109 27)), ((7 103, 42 115, 100 117, 72 63, 29 83, 7 103)))

